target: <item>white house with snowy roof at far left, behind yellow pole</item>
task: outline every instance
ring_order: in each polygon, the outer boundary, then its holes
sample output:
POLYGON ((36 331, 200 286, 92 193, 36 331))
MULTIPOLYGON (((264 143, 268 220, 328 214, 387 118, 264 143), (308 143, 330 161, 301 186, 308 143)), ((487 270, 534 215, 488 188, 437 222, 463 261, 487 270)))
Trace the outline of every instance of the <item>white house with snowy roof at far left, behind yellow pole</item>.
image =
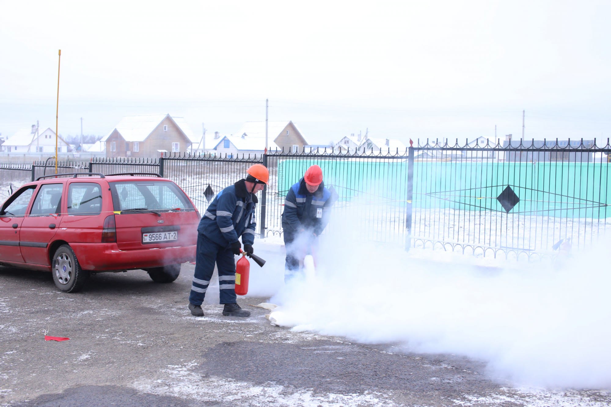
MULTIPOLYGON (((68 143, 57 138, 57 153, 67 153, 68 143)), ((51 128, 40 131, 38 125, 16 131, 2 143, 4 153, 48 153, 55 154, 55 132, 51 128)))

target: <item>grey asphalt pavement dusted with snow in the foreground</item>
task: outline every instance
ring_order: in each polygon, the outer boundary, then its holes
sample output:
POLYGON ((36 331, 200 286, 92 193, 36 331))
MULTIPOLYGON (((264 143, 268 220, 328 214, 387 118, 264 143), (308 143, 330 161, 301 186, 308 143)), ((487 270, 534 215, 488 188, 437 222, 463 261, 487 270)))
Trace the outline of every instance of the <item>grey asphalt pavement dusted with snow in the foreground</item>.
POLYGON ((604 391, 518 389, 462 356, 272 326, 249 306, 267 298, 238 300, 250 318, 224 317, 216 285, 192 317, 193 267, 172 284, 101 273, 73 294, 50 273, 0 268, 0 405, 611 405, 604 391))

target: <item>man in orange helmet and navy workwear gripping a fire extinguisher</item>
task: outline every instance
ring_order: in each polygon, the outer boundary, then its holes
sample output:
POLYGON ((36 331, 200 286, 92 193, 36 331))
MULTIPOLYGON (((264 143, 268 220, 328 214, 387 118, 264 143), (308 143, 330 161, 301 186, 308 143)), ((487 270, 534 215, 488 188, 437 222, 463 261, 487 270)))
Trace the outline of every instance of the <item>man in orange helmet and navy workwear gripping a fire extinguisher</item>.
POLYGON ((189 310, 203 317, 202 303, 214 272, 219 274, 220 303, 223 315, 249 317, 250 311, 241 309, 235 294, 235 256, 244 251, 252 254, 255 240, 255 194, 269 182, 269 171, 262 164, 254 164, 246 171, 246 178, 228 186, 214 197, 197 227, 195 273, 189 295, 189 310))

